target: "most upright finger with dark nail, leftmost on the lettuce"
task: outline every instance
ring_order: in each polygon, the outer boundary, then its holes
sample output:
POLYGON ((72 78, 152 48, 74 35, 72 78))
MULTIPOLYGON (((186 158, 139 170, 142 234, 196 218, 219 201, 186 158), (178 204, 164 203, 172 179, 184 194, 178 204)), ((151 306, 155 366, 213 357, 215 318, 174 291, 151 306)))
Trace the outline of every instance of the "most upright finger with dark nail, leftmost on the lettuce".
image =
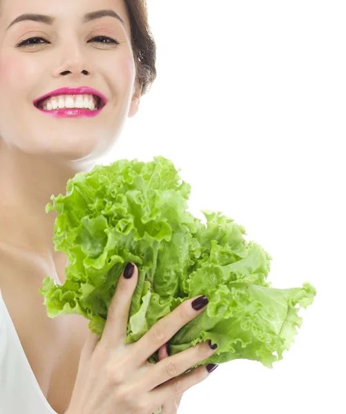
POLYGON ((115 293, 108 307, 108 314, 100 344, 114 347, 124 344, 127 335, 128 314, 138 281, 138 268, 128 263, 119 277, 115 293), (131 276, 132 274, 132 276, 131 276), (126 279, 126 277, 131 276, 126 279))

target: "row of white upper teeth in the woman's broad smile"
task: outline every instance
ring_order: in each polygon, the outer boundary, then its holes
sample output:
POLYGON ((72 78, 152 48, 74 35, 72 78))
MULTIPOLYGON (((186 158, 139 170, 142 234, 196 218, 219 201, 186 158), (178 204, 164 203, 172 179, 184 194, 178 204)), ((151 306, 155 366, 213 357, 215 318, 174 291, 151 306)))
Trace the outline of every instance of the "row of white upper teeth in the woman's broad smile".
POLYGON ((97 99, 93 95, 59 95, 50 97, 42 103, 40 103, 39 108, 44 110, 64 108, 97 110, 97 99))

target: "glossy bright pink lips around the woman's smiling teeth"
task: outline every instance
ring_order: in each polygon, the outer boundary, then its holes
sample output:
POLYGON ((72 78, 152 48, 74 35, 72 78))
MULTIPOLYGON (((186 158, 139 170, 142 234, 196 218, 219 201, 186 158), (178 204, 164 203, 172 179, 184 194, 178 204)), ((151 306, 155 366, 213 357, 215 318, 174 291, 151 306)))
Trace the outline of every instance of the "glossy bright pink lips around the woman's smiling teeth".
POLYGON ((99 90, 89 88, 88 86, 81 86, 80 88, 60 88, 53 90, 52 92, 35 99, 33 102, 35 107, 44 112, 47 115, 52 117, 95 117, 102 111, 104 106, 106 105, 108 99, 101 93, 99 90), (65 108, 65 109, 57 109, 57 110, 44 110, 41 108, 37 108, 35 105, 37 102, 41 101, 42 99, 46 99, 48 97, 52 97, 55 95, 96 95, 102 101, 102 107, 98 110, 88 110, 88 109, 79 109, 79 108, 65 108))

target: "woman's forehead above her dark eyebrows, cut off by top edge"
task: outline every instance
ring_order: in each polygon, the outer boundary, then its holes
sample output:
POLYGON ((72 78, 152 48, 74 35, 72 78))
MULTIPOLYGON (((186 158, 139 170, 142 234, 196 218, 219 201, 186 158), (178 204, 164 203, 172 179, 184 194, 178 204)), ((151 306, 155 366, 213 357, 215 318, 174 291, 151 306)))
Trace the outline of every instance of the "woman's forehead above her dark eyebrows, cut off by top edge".
POLYGON ((86 14, 99 10, 116 12, 129 32, 125 0, 0 0, 1 26, 5 29, 21 14, 45 14, 55 18, 53 24, 59 26, 82 24, 86 14))

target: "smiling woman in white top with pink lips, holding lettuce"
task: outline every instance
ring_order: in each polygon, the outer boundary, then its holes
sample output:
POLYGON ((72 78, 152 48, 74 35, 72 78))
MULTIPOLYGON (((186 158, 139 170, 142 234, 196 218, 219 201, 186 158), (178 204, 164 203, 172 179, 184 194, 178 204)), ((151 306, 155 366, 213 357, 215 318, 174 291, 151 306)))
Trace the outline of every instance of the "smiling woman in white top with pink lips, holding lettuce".
POLYGON ((99 342, 80 315, 49 319, 37 292, 47 275, 63 284, 67 264, 52 243, 50 195, 110 150, 155 80, 144 1, 0 0, 1 413, 150 414, 162 405, 172 414, 209 375, 204 366, 183 375, 214 352, 209 344, 172 357, 165 346, 207 300, 184 302, 124 346, 135 266, 119 279, 99 342))

